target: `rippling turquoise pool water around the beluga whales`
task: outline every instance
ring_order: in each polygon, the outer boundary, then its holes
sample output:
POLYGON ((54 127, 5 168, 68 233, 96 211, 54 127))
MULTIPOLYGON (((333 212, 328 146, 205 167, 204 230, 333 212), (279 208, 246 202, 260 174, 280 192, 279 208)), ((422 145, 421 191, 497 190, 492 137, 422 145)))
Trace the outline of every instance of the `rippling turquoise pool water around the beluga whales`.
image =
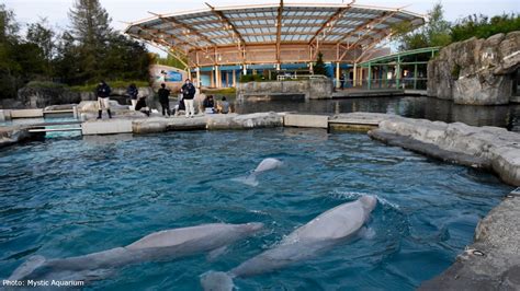
POLYGON ((260 221, 265 230, 214 261, 201 254, 121 269, 89 286, 196 290, 319 213, 376 195, 374 234, 241 290, 412 290, 472 242, 477 221, 511 188, 495 176, 385 147, 365 135, 301 129, 55 138, 0 150, 0 278, 32 255, 69 257, 155 231, 260 221), (264 158, 284 162, 250 187, 233 178, 264 158))

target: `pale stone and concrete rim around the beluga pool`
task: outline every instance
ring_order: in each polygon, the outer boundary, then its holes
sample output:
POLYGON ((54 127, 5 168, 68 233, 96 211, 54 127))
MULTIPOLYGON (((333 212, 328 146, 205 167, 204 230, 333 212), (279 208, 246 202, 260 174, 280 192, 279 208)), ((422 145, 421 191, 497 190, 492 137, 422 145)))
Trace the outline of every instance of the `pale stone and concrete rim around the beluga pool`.
MULTIPOLYGON (((362 130, 391 146, 398 146, 444 162, 496 173, 509 185, 520 186, 520 135, 497 127, 472 127, 405 118, 388 114, 351 113, 335 116, 290 113, 207 115, 195 118, 151 117, 89 120, 83 135, 154 133, 172 130, 252 129, 265 127, 362 130)), ((41 137, 41 135, 38 136, 41 137)), ((0 129, 0 147, 34 136, 24 126, 0 129)), ((474 243, 443 273, 423 282, 422 290, 520 289, 520 193, 511 191, 477 225, 474 243)))

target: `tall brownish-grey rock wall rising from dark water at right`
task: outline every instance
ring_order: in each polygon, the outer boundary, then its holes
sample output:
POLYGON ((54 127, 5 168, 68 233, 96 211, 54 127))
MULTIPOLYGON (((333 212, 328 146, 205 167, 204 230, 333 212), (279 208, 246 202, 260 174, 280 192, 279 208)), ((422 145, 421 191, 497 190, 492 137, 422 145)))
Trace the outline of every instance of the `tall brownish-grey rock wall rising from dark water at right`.
POLYGON ((520 32, 454 43, 428 63, 428 95, 456 104, 508 104, 519 67, 520 32))

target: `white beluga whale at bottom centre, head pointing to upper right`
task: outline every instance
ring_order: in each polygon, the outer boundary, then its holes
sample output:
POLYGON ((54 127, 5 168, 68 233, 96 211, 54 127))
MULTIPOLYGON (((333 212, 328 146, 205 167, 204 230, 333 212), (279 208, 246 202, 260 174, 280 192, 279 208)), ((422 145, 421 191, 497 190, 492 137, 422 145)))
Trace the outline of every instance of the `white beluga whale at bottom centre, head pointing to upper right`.
POLYGON ((227 271, 201 276, 204 290, 233 290, 233 279, 270 272, 291 264, 314 258, 335 245, 353 237, 365 224, 377 199, 362 196, 335 207, 289 234, 279 245, 227 271))

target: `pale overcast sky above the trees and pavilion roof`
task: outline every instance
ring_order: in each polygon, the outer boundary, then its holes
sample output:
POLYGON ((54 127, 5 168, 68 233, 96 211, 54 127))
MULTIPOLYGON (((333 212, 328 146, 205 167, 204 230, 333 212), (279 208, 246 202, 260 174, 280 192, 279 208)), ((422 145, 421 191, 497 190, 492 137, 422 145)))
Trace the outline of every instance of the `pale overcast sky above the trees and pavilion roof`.
MULTIPOLYGON (((14 11, 18 22, 22 25, 37 22, 42 18, 56 28, 69 26, 68 11, 75 0, 0 0, 8 9, 14 11)), ((174 13, 197 9, 207 9, 204 2, 214 7, 279 3, 279 0, 100 0, 112 18, 112 26, 123 31, 128 22, 150 18, 148 13, 174 13), (126 22, 126 23, 125 23, 126 22)), ((285 3, 342 3, 341 0, 285 0, 285 3)), ((344 2, 350 2, 346 0, 344 2)), ((403 8, 419 14, 426 14, 437 0, 358 0, 355 4, 403 8)), ((520 13, 519 0, 443 0, 444 16, 448 21, 455 21, 470 14, 497 15, 506 13, 520 13)), ((154 50, 155 49, 150 49, 154 50)))

